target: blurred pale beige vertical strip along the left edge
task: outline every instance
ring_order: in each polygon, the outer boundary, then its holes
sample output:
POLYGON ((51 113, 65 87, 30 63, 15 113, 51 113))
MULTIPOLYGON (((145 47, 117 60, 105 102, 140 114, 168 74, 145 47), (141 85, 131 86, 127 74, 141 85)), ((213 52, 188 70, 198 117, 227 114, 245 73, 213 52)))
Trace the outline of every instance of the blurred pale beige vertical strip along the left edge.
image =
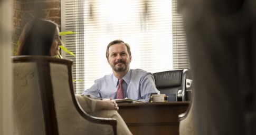
POLYGON ((12 134, 11 3, 0 0, 0 134, 12 134))

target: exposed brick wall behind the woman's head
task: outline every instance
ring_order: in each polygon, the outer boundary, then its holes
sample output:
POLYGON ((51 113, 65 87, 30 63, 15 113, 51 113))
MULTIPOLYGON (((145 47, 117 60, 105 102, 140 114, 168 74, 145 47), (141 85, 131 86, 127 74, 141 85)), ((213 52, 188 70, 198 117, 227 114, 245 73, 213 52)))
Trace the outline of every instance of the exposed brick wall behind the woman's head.
POLYGON ((61 23, 61 0, 13 0, 13 55, 16 53, 17 41, 24 25, 36 14, 40 18, 61 23))

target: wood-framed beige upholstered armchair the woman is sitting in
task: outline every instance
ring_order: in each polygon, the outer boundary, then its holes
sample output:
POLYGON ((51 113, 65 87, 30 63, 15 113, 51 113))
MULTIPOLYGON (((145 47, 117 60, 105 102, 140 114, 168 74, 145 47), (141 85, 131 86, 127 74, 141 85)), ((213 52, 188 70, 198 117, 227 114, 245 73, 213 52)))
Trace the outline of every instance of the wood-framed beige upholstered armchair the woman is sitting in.
POLYGON ((14 134, 117 134, 117 121, 92 117, 75 98, 72 61, 13 58, 14 134))

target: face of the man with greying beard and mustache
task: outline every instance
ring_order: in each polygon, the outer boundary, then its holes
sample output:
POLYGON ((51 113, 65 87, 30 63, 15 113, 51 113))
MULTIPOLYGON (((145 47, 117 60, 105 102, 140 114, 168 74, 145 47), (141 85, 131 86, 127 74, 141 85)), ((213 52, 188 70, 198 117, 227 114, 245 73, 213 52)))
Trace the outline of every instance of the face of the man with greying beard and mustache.
POLYGON ((109 47, 108 63, 113 71, 128 71, 130 67, 131 56, 128 54, 124 43, 113 44, 109 47))

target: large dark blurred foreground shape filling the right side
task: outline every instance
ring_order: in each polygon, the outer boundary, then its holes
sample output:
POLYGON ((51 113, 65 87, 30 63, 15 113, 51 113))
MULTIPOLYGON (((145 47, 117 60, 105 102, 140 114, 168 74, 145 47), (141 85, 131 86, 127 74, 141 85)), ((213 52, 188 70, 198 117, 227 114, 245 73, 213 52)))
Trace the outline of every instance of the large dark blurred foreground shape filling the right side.
POLYGON ((256 134, 256 1, 178 1, 198 134, 256 134))

